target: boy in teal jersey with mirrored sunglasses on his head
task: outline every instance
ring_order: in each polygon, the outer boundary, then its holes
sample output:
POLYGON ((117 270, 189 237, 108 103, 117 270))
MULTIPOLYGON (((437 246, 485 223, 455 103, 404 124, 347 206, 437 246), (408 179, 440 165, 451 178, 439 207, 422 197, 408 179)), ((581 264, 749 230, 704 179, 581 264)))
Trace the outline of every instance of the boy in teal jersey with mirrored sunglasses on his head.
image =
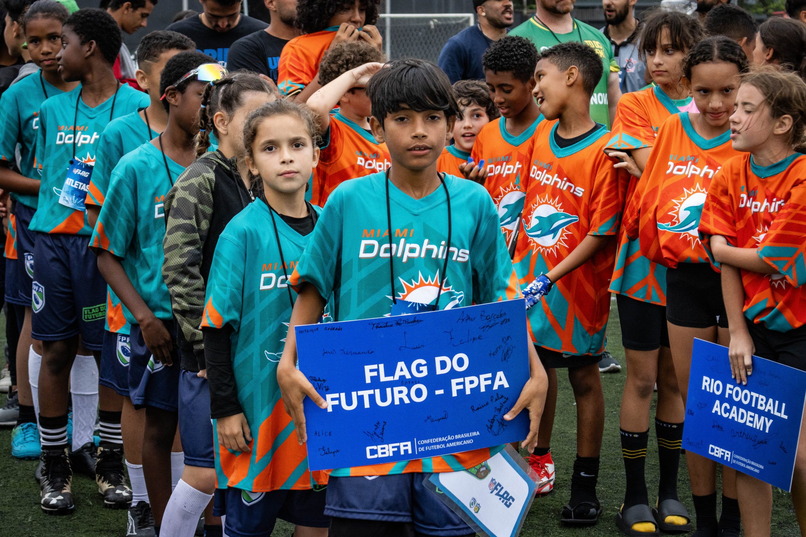
MULTIPOLYGON (((126 318, 131 323, 128 387, 135 409, 146 409, 143 475, 156 530, 171 494, 171 446, 177 429, 179 390, 171 299, 161 271, 165 234, 162 201, 196 156, 193 137, 198 132, 204 81, 220 78, 222 72, 210 56, 195 50, 168 60, 160 77, 168 126, 114 167, 89 243, 98 254, 98 268, 126 306, 126 318)), ((212 428, 208 434, 212 435, 212 428)), ((199 501, 199 494, 186 494, 186 499, 192 505, 199 501)), ((211 495, 203 496, 206 505, 211 495)))

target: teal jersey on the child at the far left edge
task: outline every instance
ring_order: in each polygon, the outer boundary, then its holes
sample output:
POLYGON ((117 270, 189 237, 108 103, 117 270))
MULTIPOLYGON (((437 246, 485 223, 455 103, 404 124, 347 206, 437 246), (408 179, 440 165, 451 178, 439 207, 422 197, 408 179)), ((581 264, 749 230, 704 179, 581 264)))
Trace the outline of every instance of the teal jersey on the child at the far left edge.
MULTIPOLYGON (((39 108, 48 97, 64 93, 45 81, 41 72, 26 76, 11 85, 0 97, 0 159, 15 163, 15 150, 19 143, 19 172, 31 179, 39 179, 34 145, 39 130, 39 108)), ((37 196, 11 192, 19 203, 36 209, 37 196)))

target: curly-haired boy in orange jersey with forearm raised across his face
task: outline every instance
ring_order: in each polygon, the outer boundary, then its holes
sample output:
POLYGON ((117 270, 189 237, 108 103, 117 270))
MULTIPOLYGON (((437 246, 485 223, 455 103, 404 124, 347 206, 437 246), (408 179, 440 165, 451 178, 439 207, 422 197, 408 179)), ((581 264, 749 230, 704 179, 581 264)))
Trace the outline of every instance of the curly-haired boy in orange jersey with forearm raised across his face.
POLYGON ((385 61, 384 53, 366 41, 339 43, 319 64, 324 85, 308 100, 318 114, 323 134, 319 164, 314 170, 311 203, 324 207, 327 196, 343 181, 384 171, 389 166, 386 146, 369 130, 372 103, 364 86, 385 61), (339 106, 336 114, 330 110, 339 106))

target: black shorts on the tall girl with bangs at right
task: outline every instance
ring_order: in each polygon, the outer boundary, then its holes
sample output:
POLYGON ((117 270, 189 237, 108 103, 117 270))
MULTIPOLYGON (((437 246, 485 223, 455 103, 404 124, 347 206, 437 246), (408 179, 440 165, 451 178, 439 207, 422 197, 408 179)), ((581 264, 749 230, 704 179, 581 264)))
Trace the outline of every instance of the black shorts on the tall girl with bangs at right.
POLYGON ((669 346, 666 307, 627 295, 616 295, 616 305, 625 349, 657 350, 669 346))

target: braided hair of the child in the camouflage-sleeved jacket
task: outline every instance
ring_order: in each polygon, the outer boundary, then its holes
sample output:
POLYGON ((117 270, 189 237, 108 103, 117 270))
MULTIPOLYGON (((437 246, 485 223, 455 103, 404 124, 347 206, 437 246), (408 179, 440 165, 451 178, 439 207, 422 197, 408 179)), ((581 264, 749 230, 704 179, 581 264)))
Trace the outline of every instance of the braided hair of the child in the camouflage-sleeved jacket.
POLYGON ((214 115, 218 111, 228 116, 235 114, 235 110, 243 105, 243 94, 250 91, 280 98, 280 92, 272 81, 245 70, 231 72, 206 86, 202 95, 202 111, 199 113, 199 133, 196 135, 197 156, 204 155, 210 148, 210 133, 218 136, 214 115))

